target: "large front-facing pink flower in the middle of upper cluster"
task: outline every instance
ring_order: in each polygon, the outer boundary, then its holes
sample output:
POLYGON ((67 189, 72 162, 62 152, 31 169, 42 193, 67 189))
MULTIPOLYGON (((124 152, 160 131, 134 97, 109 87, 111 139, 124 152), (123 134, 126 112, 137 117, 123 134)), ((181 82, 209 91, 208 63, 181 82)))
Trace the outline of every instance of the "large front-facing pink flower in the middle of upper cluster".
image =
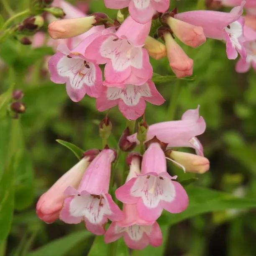
POLYGON ((105 64, 107 86, 145 84, 153 74, 148 53, 143 46, 151 23, 139 24, 126 18, 116 33, 97 37, 85 50, 88 59, 105 64))

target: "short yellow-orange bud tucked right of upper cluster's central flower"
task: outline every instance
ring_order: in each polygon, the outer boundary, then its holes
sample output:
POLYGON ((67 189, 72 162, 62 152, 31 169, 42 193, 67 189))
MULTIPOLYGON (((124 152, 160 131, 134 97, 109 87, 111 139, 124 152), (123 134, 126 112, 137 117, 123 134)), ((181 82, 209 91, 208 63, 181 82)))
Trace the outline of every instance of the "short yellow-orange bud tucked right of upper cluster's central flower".
POLYGON ((166 56, 165 45, 151 36, 146 38, 144 48, 148 51, 148 54, 156 60, 166 56))

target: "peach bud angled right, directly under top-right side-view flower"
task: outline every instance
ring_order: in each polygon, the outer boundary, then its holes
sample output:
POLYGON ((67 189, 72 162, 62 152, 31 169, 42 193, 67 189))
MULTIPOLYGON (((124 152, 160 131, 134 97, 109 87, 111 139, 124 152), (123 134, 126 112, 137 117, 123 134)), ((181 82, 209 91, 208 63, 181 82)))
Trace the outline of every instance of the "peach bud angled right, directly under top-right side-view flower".
POLYGON ((206 37, 202 27, 194 26, 172 17, 167 18, 166 22, 182 43, 194 48, 205 43, 206 37))

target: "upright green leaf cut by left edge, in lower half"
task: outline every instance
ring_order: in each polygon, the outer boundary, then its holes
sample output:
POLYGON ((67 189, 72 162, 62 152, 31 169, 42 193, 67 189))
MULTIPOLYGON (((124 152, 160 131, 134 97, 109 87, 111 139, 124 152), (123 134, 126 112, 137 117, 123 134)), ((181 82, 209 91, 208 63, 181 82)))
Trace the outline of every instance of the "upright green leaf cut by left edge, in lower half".
POLYGON ((5 168, 0 181, 0 244, 4 242, 10 232, 14 210, 13 172, 15 157, 5 168))

